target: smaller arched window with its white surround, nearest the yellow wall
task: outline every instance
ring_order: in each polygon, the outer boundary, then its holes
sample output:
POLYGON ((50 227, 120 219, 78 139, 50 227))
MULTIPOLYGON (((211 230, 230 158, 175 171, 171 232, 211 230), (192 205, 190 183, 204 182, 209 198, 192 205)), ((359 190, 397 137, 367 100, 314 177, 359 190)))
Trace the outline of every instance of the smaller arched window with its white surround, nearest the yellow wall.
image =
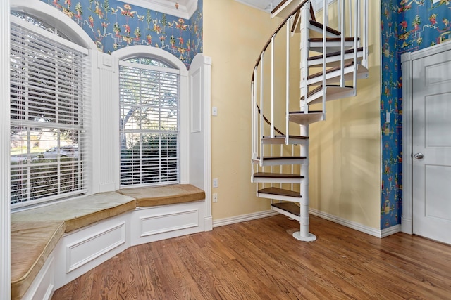
POLYGON ((188 183, 188 72, 160 48, 128 46, 118 60, 121 187, 188 183))

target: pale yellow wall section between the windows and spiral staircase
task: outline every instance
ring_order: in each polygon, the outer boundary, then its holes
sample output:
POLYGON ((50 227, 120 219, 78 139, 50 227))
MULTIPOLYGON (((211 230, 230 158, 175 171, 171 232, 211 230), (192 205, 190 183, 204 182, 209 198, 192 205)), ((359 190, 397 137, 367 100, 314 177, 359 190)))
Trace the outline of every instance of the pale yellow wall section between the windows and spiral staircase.
POLYGON ((204 0, 204 54, 211 56, 211 175, 218 178, 213 219, 269 209, 251 178, 250 81, 268 35, 276 29, 263 11, 234 0, 204 0))

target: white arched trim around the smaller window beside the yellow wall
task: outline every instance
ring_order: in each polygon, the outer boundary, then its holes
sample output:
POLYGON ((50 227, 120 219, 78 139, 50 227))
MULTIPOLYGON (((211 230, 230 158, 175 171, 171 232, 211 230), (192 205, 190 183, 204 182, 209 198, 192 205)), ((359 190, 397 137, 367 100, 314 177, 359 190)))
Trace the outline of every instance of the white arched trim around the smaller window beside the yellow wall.
MULTIPOLYGON (((149 47, 149 46, 128 46, 125 48, 118 49, 111 53, 111 56, 116 60, 115 65, 116 69, 116 80, 113 82, 113 90, 119 91, 119 60, 126 60, 128 58, 139 57, 139 56, 153 56, 155 58, 159 58, 164 62, 172 65, 175 69, 180 70, 180 184, 189 183, 189 159, 190 159, 190 147, 189 147, 189 135, 190 135, 190 105, 188 98, 188 71, 187 67, 181 60, 173 56, 171 53, 164 51, 160 48, 149 47)), ((119 93, 117 92, 117 96, 114 99, 114 103, 112 105, 116 105, 119 107, 119 93)), ((117 128, 119 124, 119 115, 116 116, 116 124, 117 128)), ((118 130, 117 130, 118 132, 118 130)), ((115 145, 116 148, 119 148, 119 145, 115 145)), ((116 162, 115 168, 115 178, 117 188, 120 188, 120 153, 116 151, 116 157, 114 162, 116 162)))

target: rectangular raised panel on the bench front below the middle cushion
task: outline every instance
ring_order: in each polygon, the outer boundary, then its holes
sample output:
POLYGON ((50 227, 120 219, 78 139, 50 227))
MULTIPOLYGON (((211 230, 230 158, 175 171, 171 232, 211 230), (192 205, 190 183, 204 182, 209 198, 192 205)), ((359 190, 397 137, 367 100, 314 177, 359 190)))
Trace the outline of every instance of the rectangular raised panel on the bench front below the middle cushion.
POLYGON ((73 244, 68 244, 66 246, 66 273, 97 259, 121 244, 125 244, 125 222, 73 244))

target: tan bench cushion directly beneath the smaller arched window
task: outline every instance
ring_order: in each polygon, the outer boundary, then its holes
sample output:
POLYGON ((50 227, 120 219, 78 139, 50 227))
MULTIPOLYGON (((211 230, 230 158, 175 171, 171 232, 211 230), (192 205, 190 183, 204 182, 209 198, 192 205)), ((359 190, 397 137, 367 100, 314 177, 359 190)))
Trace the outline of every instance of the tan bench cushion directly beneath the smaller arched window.
POLYGON ((154 207, 205 199, 205 192, 190 184, 163 185, 152 188, 123 188, 118 193, 137 200, 138 207, 154 207))

